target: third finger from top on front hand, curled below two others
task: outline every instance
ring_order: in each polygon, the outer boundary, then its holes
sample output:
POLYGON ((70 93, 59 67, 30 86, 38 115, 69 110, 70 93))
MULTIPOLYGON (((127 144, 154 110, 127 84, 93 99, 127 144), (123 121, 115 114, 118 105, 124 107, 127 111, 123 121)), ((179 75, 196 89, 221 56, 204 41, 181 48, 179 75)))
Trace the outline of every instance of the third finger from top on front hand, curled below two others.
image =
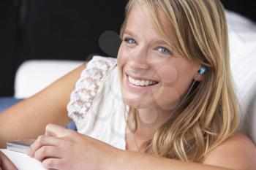
POLYGON ((60 158, 61 150, 59 147, 42 146, 34 152, 34 158, 42 162, 45 158, 60 158))

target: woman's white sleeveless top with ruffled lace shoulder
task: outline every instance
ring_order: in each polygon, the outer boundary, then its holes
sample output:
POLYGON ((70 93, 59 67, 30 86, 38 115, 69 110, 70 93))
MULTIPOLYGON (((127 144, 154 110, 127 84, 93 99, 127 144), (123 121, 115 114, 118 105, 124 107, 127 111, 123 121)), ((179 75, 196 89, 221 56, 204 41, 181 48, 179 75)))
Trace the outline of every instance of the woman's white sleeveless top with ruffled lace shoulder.
POLYGON ((116 58, 94 56, 87 63, 67 110, 79 133, 125 150, 124 104, 116 58))

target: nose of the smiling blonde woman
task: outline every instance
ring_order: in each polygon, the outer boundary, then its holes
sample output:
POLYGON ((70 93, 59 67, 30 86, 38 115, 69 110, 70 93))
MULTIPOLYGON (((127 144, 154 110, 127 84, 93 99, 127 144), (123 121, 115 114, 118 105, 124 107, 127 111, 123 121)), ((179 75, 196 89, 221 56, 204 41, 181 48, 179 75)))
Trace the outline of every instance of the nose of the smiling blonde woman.
POLYGON ((142 47, 132 54, 132 57, 129 58, 129 65, 134 70, 146 70, 149 68, 147 62, 147 50, 145 47, 142 47))

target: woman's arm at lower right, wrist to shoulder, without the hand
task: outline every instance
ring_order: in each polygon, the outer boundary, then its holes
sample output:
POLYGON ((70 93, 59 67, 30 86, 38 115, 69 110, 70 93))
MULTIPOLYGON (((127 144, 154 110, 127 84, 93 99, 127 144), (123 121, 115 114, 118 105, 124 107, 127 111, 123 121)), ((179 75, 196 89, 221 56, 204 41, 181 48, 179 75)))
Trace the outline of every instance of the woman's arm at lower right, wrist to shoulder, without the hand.
POLYGON ((236 133, 208 154, 203 164, 159 158, 138 152, 121 151, 111 169, 161 170, 255 170, 256 147, 245 135, 236 133))

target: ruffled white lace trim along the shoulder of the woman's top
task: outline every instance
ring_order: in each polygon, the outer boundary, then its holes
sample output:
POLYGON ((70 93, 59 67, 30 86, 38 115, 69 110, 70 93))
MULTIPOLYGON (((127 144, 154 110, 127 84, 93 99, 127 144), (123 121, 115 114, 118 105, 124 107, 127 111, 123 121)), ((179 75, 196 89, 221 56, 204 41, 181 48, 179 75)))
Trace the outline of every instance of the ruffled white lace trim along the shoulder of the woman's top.
POLYGON ((72 91, 67 111, 74 121, 83 120, 91 108, 92 101, 97 94, 104 75, 111 66, 116 64, 115 58, 94 56, 87 63, 86 69, 81 73, 80 79, 72 91))

